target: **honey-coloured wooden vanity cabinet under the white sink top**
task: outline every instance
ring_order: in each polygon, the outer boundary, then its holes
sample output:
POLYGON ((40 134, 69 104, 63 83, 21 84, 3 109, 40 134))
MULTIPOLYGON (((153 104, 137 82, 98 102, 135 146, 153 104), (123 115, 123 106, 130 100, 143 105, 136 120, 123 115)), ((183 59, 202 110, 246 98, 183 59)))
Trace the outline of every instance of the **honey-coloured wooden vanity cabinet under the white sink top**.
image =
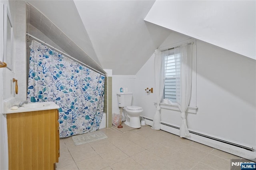
POLYGON ((9 170, 53 170, 60 156, 58 109, 6 114, 9 170))

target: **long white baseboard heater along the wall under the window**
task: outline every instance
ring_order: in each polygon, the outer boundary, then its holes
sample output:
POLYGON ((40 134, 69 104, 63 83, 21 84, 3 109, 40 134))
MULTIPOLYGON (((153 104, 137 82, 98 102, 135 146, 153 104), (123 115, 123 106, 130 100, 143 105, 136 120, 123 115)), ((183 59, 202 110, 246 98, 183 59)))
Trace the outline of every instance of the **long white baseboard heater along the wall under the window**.
MULTIPOLYGON (((144 117, 144 120, 147 125, 150 125, 150 126, 153 125, 152 119, 144 117)), ((180 134, 180 128, 175 125, 170 125, 170 124, 161 122, 160 129, 166 132, 170 132, 172 134, 176 134, 178 136, 180 134)), ((236 156, 240 156, 242 158, 246 158, 248 160, 256 161, 256 152, 251 146, 243 146, 241 144, 236 144, 234 142, 228 142, 228 140, 224 140, 226 142, 223 142, 223 138, 216 138, 216 137, 207 135, 210 137, 208 138, 203 133, 196 132, 194 130, 189 130, 189 131, 190 131, 190 136, 186 137, 189 140, 210 146, 212 148, 222 150, 224 152, 228 152, 230 154, 234 154, 236 156)))

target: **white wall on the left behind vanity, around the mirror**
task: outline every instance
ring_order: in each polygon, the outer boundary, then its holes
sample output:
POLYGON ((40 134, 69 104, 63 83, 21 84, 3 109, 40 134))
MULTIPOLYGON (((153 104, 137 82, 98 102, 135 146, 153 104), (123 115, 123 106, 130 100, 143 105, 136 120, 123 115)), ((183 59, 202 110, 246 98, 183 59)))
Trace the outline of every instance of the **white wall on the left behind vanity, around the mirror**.
MULTIPOLYGON (((24 1, 2 1, 1 4, 8 4, 10 15, 12 18, 12 26, 14 33, 13 40, 13 70, 8 68, 0 69, 0 169, 8 170, 8 140, 7 140, 7 127, 6 127, 6 115, 3 115, 3 101, 12 97, 26 99, 26 6, 24 1), (14 94, 14 83, 12 78, 18 79, 18 95, 14 94)), ((1 23, 2 23, 2 11, 1 11, 1 23)), ((2 25, 1 25, 2 28, 2 25)), ((1 30, 2 32, 2 30, 1 30)), ((1 41, 3 40, 1 34, 1 41)), ((1 56, 2 55, 2 43, 1 42, 1 56)), ((2 61, 2 58, 0 59, 2 61)))

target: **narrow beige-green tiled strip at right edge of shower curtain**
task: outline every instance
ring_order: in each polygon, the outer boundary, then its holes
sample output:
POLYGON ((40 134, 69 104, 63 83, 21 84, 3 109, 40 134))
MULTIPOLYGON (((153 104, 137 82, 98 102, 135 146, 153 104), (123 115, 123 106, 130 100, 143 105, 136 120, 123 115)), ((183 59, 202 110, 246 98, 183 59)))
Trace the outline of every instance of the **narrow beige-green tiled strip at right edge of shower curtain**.
POLYGON ((105 77, 105 98, 104 98, 104 113, 106 113, 106 127, 112 127, 112 77, 105 77))

